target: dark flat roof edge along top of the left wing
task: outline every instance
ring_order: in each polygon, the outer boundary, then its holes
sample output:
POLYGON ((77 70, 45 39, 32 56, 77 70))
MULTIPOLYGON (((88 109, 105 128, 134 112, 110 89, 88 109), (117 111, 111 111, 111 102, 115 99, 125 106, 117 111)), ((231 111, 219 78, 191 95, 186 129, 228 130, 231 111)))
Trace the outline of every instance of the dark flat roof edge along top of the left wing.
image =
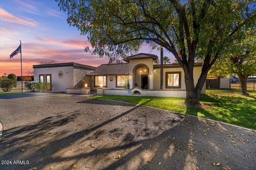
POLYGON ((74 69, 81 69, 81 70, 96 70, 97 67, 78 64, 78 63, 56 63, 56 64, 41 64, 41 65, 33 65, 33 69, 41 69, 41 68, 49 68, 49 67, 68 67, 73 66, 74 69))

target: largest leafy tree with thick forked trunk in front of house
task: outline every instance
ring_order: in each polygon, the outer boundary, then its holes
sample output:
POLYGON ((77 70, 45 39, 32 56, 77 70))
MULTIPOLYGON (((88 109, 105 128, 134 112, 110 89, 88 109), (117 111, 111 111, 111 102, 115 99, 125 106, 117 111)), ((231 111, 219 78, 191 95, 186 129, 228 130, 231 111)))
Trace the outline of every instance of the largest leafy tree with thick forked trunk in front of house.
MULTIPOLYGON (((247 0, 86 1, 56 0, 90 41, 93 52, 113 60, 137 52, 142 43, 171 52, 185 73, 186 104, 198 106, 207 72, 238 30, 255 24, 247 0), (202 73, 194 84, 195 61, 202 73)), ((88 49, 88 48, 87 48, 88 49)))

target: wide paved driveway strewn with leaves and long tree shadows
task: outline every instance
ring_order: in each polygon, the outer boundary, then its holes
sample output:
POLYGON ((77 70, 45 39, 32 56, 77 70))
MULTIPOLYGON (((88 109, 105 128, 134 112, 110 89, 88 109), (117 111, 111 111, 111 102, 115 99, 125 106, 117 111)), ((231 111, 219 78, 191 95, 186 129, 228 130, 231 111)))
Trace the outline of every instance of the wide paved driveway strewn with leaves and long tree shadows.
POLYGON ((197 117, 65 95, 5 97, 0 107, 0 159, 12 161, 0 169, 256 167, 255 131, 197 117))

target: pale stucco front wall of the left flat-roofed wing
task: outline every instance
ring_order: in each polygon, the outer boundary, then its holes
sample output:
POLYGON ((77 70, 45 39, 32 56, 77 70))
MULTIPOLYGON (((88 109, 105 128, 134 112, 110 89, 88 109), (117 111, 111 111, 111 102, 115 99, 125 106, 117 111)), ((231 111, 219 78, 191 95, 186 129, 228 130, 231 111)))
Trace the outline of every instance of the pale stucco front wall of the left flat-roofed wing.
POLYGON ((67 92, 66 88, 74 87, 73 66, 34 69, 35 82, 39 82, 39 74, 52 75, 52 92, 67 92), (63 77, 61 79, 58 77, 59 71, 63 72, 63 77))

